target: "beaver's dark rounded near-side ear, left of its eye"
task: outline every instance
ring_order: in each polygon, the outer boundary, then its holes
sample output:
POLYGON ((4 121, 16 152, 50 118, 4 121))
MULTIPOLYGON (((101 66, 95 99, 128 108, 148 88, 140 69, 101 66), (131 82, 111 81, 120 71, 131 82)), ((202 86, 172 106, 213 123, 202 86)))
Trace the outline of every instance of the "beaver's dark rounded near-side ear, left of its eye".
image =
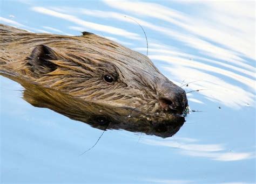
POLYGON ((36 46, 29 56, 31 70, 37 74, 46 74, 57 69, 57 65, 51 60, 57 60, 55 52, 48 46, 36 46))

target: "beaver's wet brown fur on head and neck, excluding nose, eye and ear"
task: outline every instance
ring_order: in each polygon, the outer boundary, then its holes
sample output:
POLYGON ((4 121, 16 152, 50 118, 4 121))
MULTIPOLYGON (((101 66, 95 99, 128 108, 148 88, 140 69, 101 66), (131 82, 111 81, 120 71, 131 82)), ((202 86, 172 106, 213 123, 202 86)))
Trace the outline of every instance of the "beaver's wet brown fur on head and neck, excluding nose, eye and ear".
POLYGON ((2 71, 86 101, 127 108, 140 105, 138 109, 152 112, 160 95, 157 84, 167 80, 147 56, 95 34, 60 36, 0 25, 0 37, 2 71), (57 69, 32 71, 30 55, 38 45, 53 49, 57 59, 50 62, 57 69), (117 81, 104 82, 104 74, 117 81))

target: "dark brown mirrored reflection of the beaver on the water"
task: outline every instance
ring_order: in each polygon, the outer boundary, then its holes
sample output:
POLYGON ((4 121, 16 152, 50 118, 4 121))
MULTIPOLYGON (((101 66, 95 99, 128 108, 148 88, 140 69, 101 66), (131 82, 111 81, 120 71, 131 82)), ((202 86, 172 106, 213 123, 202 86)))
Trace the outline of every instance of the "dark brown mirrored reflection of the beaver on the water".
POLYGON ((12 74, 1 73, 1 75, 19 82, 24 87, 23 99, 31 105, 51 109, 100 130, 123 129, 166 138, 177 133, 185 122, 183 116, 170 114, 166 119, 157 114, 143 114, 136 109, 102 105, 100 102, 85 101, 38 86, 12 74))

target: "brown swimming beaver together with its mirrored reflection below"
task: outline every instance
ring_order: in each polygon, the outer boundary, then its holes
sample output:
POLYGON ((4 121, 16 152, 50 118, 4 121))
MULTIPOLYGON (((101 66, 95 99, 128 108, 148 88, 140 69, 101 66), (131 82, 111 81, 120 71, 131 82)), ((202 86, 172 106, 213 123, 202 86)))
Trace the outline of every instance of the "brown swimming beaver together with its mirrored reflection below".
POLYGON ((185 91, 141 53, 89 32, 62 36, 0 24, 0 36, 0 74, 21 83, 36 107, 103 130, 161 137, 185 121, 185 91))

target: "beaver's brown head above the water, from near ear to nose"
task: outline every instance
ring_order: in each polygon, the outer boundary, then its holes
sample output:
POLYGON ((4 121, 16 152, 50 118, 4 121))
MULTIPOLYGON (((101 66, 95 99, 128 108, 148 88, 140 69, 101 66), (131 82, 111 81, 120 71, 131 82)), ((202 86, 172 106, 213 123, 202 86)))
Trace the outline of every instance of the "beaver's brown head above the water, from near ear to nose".
POLYGON ((86 101, 145 114, 183 114, 187 106, 185 91, 147 56, 95 34, 37 45, 27 60, 37 82, 86 101))

